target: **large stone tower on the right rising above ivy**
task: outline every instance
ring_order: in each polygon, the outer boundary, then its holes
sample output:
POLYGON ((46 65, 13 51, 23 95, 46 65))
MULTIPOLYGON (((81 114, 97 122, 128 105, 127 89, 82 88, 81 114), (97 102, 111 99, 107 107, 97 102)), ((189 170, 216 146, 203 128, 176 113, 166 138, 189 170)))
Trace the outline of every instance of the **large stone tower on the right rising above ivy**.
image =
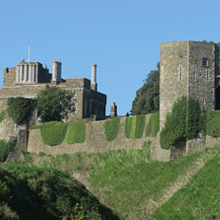
POLYGON ((207 111, 220 109, 219 46, 213 42, 177 41, 160 46, 160 129, 182 96, 207 111))

